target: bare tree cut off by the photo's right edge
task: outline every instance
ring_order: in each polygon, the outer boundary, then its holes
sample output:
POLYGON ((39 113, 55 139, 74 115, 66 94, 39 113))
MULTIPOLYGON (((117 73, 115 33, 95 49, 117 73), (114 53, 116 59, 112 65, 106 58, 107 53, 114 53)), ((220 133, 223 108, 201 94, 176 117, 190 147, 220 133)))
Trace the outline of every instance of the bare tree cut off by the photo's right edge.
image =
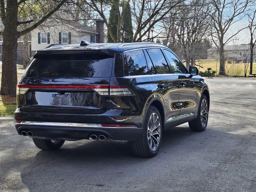
POLYGON ((250 74, 252 74, 252 63, 254 58, 253 50, 256 43, 256 9, 249 11, 248 20, 249 20, 248 29, 250 32, 250 74))

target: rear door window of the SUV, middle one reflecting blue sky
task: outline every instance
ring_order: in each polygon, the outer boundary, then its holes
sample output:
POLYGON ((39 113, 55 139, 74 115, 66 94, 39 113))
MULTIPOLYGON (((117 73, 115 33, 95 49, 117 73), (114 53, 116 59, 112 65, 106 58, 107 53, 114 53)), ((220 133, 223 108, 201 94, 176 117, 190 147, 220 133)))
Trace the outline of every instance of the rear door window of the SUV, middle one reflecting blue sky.
POLYGON ((168 74, 170 70, 164 55, 160 49, 147 49, 147 52, 154 64, 156 74, 168 74))

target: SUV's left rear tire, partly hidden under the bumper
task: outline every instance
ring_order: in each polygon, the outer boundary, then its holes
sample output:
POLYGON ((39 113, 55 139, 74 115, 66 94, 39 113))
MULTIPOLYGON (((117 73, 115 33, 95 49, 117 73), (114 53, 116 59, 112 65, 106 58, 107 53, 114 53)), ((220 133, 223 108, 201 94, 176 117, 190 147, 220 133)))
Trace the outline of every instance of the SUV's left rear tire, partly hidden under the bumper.
POLYGON ((57 140, 56 142, 52 142, 52 140, 48 140, 48 139, 38 139, 38 138, 32 138, 32 139, 37 148, 41 150, 46 150, 46 151, 58 150, 59 148, 61 148, 61 146, 65 142, 65 140, 57 140))

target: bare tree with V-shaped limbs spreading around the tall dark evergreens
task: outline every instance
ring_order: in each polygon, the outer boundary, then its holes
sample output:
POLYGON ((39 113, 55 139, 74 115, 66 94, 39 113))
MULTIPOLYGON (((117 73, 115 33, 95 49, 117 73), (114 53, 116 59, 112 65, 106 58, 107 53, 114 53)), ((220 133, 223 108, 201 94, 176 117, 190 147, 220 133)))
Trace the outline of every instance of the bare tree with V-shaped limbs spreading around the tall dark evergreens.
MULTIPOLYGON (((106 28, 108 30, 108 34, 112 38, 113 42, 120 42, 121 35, 121 26, 122 20, 124 17, 124 12, 122 8, 123 1, 118 1, 120 5, 117 9, 118 11, 118 27, 117 27, 117 37, 113 35, 113 32, 108 24, 108 10, 110 9, 110 3, 112 1, 107 0, 90 0, 85 1, 88 6, 90 6, 95 12, 97 12, 104 23, 106 24, 106 28), (107 9, 107 10, 106 10, 107 9)), ((130 2, 131 11, 132 11, 132 20, 134 23, 134 36, 133 42, 140 41, 149 41, 152 40, 150 37, 150 32, 158 22, 162 19, 166 18, 166 15, 173 9, 177 9, 178 5, 181 5, 181 2, 184 0, 142 0, 136 1, 125 0, 125 2, 130 2)), ((159 29, 159 28, 158 28, 159 29)), ((154 33, 156 30, 154 30, 154 33)), ((158 32, 158 34, 160 34, 158 32)), ((157 38, 158 36, 154 36, 153 38, 157 38)))

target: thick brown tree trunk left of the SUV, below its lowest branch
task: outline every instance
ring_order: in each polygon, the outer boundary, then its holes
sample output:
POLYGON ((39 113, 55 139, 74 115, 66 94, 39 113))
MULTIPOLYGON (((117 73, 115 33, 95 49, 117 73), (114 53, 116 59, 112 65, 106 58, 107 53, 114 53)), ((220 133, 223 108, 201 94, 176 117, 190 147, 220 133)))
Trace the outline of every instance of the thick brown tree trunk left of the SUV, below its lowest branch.
POLYGON ((13 31, 15 28, 5 27, 3 32, 1 95, 16 95, 18 36, 13 31))

